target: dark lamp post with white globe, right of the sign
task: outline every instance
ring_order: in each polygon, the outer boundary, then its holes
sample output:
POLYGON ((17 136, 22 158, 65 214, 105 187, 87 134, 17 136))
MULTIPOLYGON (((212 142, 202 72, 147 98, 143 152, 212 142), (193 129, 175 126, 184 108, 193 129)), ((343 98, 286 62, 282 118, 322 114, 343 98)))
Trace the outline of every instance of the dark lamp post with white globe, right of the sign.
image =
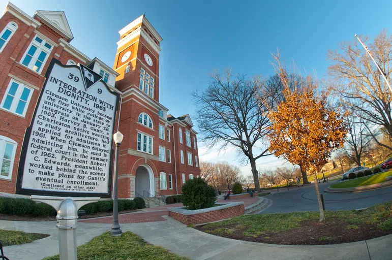
POLYGON ((118 236, 122 233, 120 225, 118 224, 118 204, 117 204, 117 189, 118 189, 118 148, 123 142, 123 134, 119 131, 113 135, 113 141, 116 144, 116 154, 114 159, 114 183, 113 183, 113 225, 110 234, 112 236, 118 236))

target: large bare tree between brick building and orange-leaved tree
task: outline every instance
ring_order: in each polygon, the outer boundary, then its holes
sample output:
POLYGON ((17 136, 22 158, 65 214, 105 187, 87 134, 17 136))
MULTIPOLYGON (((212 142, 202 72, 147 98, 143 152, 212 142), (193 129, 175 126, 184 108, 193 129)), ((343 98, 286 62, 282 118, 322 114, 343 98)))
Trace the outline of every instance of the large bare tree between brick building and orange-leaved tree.
MULTIPOLYGON (((256 160, 270 155, 265 139, 268 108, 258 102, 260 79, 233 77, 230 70, 223 75, 215 72, 211 78, 205 91, 193 93, 202 140, 209 148, 216 145, 220 150, 228 145, 236 147, 249 161, 255 188, 260 190, 256 160)), ((261 95, 268 100, 270 92, 261 95)))

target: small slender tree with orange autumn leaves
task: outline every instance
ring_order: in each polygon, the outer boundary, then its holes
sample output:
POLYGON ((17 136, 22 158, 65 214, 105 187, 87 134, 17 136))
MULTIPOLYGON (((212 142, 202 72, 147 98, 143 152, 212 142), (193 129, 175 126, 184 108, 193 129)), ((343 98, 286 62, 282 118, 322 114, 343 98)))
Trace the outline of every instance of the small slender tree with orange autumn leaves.
POLYGON ((285 69, 278 74, 285 88, 283 101, 268 113, 271 125, 269 151, 305 170, 313 170, 320 221, 325 220, 316 173, 326 163, 331 152, 343 146, 347 127, 342 116, 328 105, 328 92, 318 93, 317 82, 307 77, 305 82, 289 88, 285 69))

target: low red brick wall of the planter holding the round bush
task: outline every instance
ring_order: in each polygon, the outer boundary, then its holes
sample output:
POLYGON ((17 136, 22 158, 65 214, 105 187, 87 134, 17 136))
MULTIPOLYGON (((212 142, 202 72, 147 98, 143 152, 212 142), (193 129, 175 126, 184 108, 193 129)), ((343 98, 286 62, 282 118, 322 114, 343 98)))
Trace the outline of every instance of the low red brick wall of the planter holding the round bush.
POLYGON ((169 217, 174 218, 184 224, 203 224, 222 219, 232 218, 245 214, 244 204, 236 205, 226 209, 218 209, 200 214, 183 215, 177 212, 168 211, 169 217))

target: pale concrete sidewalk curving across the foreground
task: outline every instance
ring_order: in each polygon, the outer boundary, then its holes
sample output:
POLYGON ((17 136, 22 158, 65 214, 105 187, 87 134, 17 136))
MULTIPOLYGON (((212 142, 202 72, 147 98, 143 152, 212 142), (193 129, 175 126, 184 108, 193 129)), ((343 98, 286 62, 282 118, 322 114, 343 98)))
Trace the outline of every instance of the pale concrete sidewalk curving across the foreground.
MULTIPOLYGON (((122 224, 123 232, 131 231, 154 245, 192 259, 390 259, 392 235, 368 241, 325 246, 269 245, 227 239, 188 228, 165 216, 168 221, 122 224), (369 248, 369 250, 368 250, 369 248), (371 257, 371 258, 370 258, 371 257)), ((0 229, 46 233, 51 236, 29 244, 6 246, 11 260, 42 259, 58 253, 55 222, 17 222, 0 220, 0 229)), ((80 223, 77 244, 110 230, 110 224, 80 223)))

